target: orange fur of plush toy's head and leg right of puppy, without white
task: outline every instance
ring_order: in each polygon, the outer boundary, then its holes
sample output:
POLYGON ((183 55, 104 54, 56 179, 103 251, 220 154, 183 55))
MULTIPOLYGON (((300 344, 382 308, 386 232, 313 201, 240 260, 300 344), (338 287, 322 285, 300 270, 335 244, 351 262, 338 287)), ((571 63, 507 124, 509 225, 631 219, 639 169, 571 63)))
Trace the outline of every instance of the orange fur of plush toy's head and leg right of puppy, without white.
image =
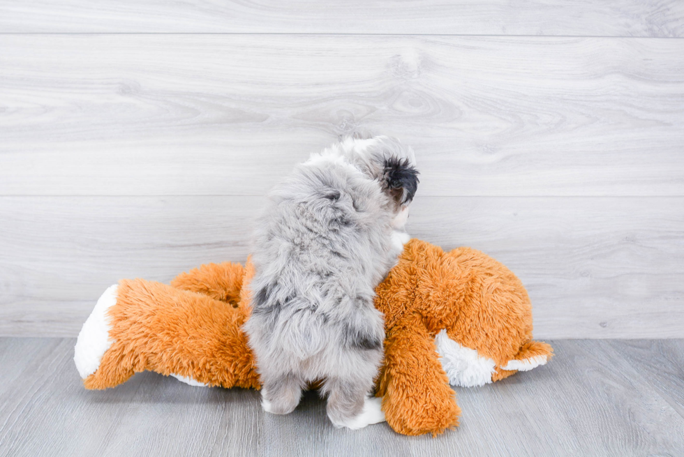
POLYGON ((459 423, 460 410, 434 343, 439 331, 493 359, 492 381, 516 373, 499 368, 512 359, 552 355, 551 346, 532 340, 525 287, 478 250, 445 253, 412 239, 376 294, 386 332, 378 396, 387 423, 399 433, 436 435, 459 423))

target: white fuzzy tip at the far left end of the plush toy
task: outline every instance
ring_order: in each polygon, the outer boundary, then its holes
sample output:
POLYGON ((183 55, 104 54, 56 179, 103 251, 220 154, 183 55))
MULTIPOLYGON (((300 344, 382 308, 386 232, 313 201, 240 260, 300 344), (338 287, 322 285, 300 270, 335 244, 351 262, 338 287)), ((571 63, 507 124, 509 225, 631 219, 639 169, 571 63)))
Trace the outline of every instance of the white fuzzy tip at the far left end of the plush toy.
POLYGON ((78 334, 73 361, 82 379, 96 372, 102 356, 114 343, 114 340, 110 339, 112 327, 107 310, 117 303, 118 288, 119 285, 114 284, 105 290, 78 334))

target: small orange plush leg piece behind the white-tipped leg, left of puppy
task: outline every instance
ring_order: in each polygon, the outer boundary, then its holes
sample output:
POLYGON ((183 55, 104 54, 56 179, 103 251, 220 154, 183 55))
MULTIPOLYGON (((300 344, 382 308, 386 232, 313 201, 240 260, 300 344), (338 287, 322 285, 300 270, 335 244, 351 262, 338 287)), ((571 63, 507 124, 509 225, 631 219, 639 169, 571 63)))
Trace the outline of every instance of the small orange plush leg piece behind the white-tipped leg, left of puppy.
POLYGON ((237 306, 244 275, 245 269, 241 264, 205 264, 179 274, 171 281, 171 285, 237 306))

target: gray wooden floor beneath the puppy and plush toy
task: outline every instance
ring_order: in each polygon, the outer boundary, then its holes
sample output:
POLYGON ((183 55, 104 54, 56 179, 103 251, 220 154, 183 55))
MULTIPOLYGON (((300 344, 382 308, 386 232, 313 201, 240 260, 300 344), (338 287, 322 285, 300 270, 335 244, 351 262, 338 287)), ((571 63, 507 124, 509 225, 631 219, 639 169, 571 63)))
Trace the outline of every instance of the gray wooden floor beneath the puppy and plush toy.
POLYGON ((73 339, 0 339, 0 456, 682 456, 684 340, 557 340, 551 364, 458 389, 461 427, 333 428, 307 394, 287 417, 256 391, 144 373, 86 391, 73 339))

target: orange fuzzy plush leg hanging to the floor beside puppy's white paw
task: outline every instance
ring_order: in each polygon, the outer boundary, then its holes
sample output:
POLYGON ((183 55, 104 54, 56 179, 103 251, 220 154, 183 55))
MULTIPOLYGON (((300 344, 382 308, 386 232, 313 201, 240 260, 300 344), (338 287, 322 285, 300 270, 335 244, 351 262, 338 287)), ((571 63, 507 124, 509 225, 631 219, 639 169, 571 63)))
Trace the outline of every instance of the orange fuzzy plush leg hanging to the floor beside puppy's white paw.
POLYGON ((461 410, 434 336, 418 315, 404 318, 387 335, 377 395, 383 396, 387 424, 404 435, 437 435, 459 425, 461 410))

